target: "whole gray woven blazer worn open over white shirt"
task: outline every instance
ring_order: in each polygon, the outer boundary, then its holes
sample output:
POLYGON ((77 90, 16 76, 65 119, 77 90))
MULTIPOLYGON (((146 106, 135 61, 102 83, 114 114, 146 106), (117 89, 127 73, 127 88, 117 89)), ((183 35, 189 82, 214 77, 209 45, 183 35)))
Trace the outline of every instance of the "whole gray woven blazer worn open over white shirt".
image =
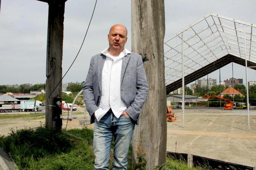
MULTIPOLYGON (((83 94, 86 108, 94 123, 93 113, 101 101, 102 69, 106 56, 102 53, 91 58, 90 68, 84 83, 83 94)), ((148 84, 142 57, 131 53, 123 57, 121 69, 121 99, 126 105, 126 113, 139 124, 139 115, 148 94, 148 84)), ((103 85, 104 86, 104 85, 103 85)))

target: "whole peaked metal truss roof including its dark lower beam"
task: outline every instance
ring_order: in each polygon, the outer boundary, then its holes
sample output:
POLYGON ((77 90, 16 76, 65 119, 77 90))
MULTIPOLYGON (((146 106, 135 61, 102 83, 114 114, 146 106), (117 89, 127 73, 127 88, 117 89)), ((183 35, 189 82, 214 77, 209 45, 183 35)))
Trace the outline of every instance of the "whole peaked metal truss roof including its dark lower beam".
POLYGON ((185 84, 230 62, 256 69, 256 25, 209 14, 164 41, 167 93, 182 86, 182 35, 185 84))

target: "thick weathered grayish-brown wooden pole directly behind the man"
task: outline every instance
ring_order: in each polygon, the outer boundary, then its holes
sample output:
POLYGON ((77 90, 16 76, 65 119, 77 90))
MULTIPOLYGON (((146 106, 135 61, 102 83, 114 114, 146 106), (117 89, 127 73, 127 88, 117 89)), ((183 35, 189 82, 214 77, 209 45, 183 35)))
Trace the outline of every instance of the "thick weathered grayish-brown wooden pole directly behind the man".
POLYGON ((149 85, 148 97, 140 114, 140 123, 134 130, 133 165, 139 145, 141 150, 146 152, 147 170, 166 162, 164 7, 164 0, 131 1, 132 51, 142 55, 149 85))

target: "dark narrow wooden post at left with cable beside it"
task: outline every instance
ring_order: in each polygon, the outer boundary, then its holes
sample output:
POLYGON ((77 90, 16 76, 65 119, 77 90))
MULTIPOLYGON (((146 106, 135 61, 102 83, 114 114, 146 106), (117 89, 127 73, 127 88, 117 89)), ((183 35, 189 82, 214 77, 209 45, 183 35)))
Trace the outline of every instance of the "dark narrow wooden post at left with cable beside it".
POLYGON ((50 0, 48 13, 47 59, 46 59, 46 127, 61 130, 61 109, 56 97, 61 98, 61 84, 49 95, 62 78, 63 22, 66 0, 50 0))

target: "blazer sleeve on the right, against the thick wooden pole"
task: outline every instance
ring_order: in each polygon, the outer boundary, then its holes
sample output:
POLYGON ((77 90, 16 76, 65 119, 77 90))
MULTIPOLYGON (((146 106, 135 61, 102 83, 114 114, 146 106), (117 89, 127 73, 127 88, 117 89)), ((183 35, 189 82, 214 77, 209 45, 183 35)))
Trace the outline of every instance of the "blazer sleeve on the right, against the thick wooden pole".
POLYGON ((139 117, 140 112, 142 111, 142 106, 148 95, 148 83, 145 74, 145 69, 143 67, 142 57, 139 56, 137 62, 137 81, 136 81, 136 96, 133 103, 125 111, 126 113, 134 120, 139 117))

